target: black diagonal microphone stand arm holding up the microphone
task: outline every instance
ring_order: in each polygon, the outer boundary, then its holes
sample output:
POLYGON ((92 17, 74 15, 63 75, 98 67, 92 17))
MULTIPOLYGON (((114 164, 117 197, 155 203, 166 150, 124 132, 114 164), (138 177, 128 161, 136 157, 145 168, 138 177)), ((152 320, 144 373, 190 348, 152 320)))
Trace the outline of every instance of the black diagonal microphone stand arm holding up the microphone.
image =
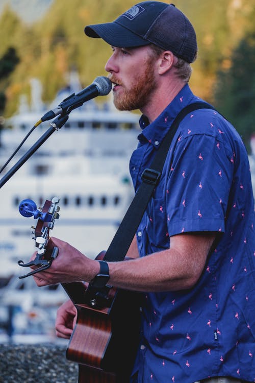
POLYGON ((25 153, 16 164, 6 173, 6 175, 0 180, 0 188, 17 172, 18 169, 39 149, 43 142, 45 142, 56 130, 62 128, 67 122, 69 116, 68 113, 59 115, 55 120, 50 123, 51 127, 34 143, 34 145, 25 153))

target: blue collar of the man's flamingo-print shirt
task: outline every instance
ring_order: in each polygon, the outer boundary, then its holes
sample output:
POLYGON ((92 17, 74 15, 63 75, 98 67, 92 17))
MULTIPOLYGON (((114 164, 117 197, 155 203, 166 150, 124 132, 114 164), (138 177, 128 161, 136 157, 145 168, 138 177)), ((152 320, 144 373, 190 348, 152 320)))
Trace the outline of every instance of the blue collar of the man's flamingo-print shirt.
POLYGON ((194 98, 194 94, 186 84, 155 121, 149 124, 148 118, 142 115, 139 121, 142 129, 138 136, 139 140, 142 141, 145 137, 156 149, 159 148, 174 118, 185 106, 190 104, 192 98, 194 98))

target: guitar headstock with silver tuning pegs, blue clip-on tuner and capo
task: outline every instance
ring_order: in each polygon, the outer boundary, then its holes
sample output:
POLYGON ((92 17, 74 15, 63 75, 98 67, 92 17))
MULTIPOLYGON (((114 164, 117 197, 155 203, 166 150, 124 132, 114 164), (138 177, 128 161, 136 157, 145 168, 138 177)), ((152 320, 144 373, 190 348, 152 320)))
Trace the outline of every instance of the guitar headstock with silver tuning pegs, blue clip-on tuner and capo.
POLYGON ((33 261, 24 264, 22 260, 19 260, 18 264, 22 267, 35 265, 41 265, 41 267, 19 278, 24 278, 49 268, 58 255, 57 247, 48 246, 49 230, 54 228, 55 220, 59 219, 60 207, 58 203, 59 198, 54 197, 51 201, 46 200, 43 207, 37 209, 35 202, 32 200, 27 199, 20 202, 19 212, 23 217, 34 216, 35 219, 38 219, 36 226, 32 226, 32 234, 34 234, 33 239, 35 240, 35 245, 38 248, 38 251, 36 258, 33 261))

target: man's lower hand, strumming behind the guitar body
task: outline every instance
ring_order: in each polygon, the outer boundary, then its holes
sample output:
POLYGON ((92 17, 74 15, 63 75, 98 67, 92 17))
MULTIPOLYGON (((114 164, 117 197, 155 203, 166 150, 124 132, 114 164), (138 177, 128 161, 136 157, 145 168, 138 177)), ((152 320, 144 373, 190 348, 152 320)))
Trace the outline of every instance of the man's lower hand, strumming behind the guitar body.
POLYGON ((77 320, 77 309, 71 300, 63 303, 57 311, 56 335, 59 338, 69 339, 77 320))

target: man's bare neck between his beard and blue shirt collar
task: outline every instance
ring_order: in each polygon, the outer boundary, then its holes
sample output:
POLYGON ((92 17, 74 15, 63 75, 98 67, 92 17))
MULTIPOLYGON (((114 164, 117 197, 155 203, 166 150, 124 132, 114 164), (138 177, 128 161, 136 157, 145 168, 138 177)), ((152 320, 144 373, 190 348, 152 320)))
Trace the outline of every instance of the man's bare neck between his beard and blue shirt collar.
POLYGON ((148 118, 149 123, 152 123, 163 112, 185 85, 186 83, 183 81, 175 81, 172 84, 163 82, 155 89, 146 105, 140 109, 148 118))

